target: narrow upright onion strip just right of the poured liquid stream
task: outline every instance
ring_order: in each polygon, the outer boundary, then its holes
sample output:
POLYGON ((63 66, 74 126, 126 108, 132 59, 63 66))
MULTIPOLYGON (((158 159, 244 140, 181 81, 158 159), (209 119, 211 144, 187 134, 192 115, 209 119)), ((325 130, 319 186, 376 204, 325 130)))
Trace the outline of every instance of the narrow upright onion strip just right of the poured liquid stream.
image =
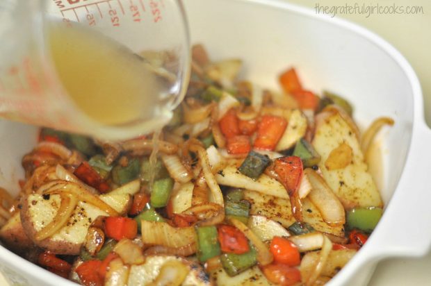
POLYGON ((202 165, 202 171, 204 171, 204 176, 206 180, 206 185, 209 186, 211 190, 210 201, 218 203, 219 205, 224 205, 222 190, 215 180, 214 174, 211 172, 211 166, 209 165, 208 156, 206 155, 206 150, 199 145, 190 146, 190 151, 197 152, 199 161, 202 165))

